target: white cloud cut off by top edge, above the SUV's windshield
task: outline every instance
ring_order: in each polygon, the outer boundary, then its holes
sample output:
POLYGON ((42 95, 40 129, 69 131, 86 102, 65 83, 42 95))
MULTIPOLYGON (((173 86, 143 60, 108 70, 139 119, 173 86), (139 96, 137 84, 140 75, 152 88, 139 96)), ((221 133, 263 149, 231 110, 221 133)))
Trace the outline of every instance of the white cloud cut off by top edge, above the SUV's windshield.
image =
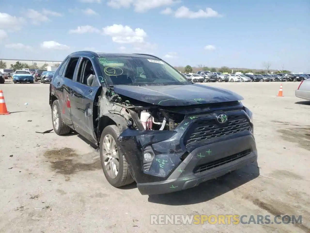
POLYGON ((119 9, 119 8, 129 8, 131 5, 134 6, 136 12, 146 12, 150 9, 171 6, 175 3, 179 3, 179 0, 109 0, 108 6, 119 9))

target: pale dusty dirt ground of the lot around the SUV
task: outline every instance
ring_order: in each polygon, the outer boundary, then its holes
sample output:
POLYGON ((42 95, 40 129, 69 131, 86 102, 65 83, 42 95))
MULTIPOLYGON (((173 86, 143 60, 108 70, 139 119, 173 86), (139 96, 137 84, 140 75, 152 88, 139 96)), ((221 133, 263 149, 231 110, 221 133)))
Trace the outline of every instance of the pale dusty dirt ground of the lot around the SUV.
POLYGON ((49 84, 0 85, 0 232, 310 232, 310 102, 299 83, 211 83, 245 99, 254 114, 258 166, 193 189, 141 195, 106 181, 99 153, 79 135, 52 129, 49 84), (151 225, 151 214, 302 215, 302 224, 151 225))

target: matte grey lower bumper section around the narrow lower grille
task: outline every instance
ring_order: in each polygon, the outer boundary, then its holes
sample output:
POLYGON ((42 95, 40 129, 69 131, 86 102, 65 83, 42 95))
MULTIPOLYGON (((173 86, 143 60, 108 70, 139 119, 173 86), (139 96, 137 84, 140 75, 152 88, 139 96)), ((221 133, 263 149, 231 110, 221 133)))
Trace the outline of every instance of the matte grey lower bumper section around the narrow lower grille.
MULTIPOLYGON (((137 187, 140 193, 143 195, 171 193, 175 191, 193 188, 202 182, 215 179, 231 171, 245 167, 246 165, 257 161, 257 150, 255 143, 253 143, 254 140, 251 137, 252 136, 246 136, 237 139, 231 139, 228 141, 197 148, 188 155, 188 157, 174 170, 174 172, 168 177, 167 180, 149 183, 138 183, 137 187), (249 144, 247 144, 246 146, 242 145, 245 141, 248 141, 248 143, 252 142, 252 144, 250 144, 251 149, 245 149, 249 147, 249 144), (241 154, 241 158, 237 158, 237 154, 240 153, 240 150, 248 151, 248 153, 241 154), (199 157, 202 154, 201 151, 204 152, 204 156, 213 158, 221 158, 223 157, 223 155, 231 153, 233 154, 228 157, 215 160, 213 163, 223 163, 223 165, 210 168, 206 171, 193 173, 193 170, 195 169, 195 167, 197 167, 197 164, 201 163, 201 160, 205 159, 205 157, 199 157), (208 153, 206 154, 206 151, 210 151, 210 155, 208 153), (213 151, 215 153, 213 153, 213 151), (216 153, 216 151, 219 152, 216 153), (231 161, 224 163, 225 158, 227 158, 228 160, 229 158, 231 158, 231 161)), ((212 164, 210 165, 212 166, 212 164)))

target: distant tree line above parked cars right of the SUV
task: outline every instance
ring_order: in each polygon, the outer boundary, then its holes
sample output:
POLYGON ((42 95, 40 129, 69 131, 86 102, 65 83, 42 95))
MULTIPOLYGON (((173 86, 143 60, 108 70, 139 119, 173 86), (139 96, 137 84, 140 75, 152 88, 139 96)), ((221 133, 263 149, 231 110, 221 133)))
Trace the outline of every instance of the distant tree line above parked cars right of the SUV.
POLYGON ((198 65, 196 67, 192 67, 190 65, 187 65, 185 67, 183 66, 174 66, 175 69, 178 71, 181 71, 182 73, 197 73, 197 71, 211 71, 211 72, 221 72, 221 73, 235 73, 235 72, 241 72, 241 73, 254 73, 254 74, 266 74, 270 73, 271 71, 276 73, 291 73, 291 71, 287 70, 270 70, 270 63, 266 64, 265 68, 263 70, 252 70, 252 69, 236 69, 236 68, 229 68, 228 66, 222 66, 221 68, 215 68, 215 67, 208 67, 208 66, 202 66, 198 65))

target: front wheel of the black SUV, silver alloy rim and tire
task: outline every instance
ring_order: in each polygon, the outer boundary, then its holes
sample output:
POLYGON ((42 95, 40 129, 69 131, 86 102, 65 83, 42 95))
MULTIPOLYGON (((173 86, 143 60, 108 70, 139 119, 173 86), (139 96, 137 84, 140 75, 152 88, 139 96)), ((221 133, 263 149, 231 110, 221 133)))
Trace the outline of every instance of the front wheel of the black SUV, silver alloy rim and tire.
POLYGON ((121 187, 134 182, 128 164, 122 152, 117 148, 116 140, 120 132, 115 125, 106 126, 100 138, 100 160, 105 178, 110 185, 121 187))

